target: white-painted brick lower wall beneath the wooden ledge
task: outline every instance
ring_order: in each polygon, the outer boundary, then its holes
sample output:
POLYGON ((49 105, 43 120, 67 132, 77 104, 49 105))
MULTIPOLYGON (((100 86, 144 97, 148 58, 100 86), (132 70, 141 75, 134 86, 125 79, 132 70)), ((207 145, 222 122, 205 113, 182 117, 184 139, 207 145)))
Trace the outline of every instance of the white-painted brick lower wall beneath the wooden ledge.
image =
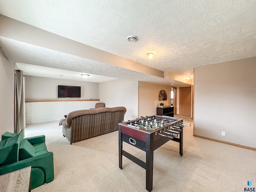
POLYGON ((99 101, 26 102, 26 124, 58 121, 64 115, 82 109, 94 108, 99 101))

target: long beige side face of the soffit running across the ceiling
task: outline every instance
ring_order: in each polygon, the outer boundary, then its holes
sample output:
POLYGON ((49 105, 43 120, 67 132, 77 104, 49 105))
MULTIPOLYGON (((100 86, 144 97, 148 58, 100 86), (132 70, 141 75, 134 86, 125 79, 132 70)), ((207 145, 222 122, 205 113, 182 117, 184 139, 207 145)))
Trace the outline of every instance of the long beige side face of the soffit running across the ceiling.
MULTIPOLYGON (((102 64, 117 66, 143 74, 148 74, 150 76, 156 76, 158 78, 166 78, 163 71, 93 48, 74 40, 64 38, 34 26, 19 22, 12 18, 0 15, 0 22, 3 26, 0 29, 0 36, 2 37, 24 42, 26 44, 40 46, 50 50, 56 50, 58 52, 63 52, 81 58, 86 58, 102 64), (19 32, 17 33, 17 31, 19 32)), ((190 83, 186 82, 184 78, 179 78, 178 81, 190 83)))

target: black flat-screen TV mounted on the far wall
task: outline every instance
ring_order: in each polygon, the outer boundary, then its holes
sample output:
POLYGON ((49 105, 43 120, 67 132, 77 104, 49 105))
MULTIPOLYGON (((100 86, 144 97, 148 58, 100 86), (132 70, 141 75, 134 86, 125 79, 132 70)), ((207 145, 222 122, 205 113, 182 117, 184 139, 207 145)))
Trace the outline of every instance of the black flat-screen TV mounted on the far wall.
POLYGON ((80 98, 81 87, 58 85, 58 98, 65 98, 65 97, 80 98))

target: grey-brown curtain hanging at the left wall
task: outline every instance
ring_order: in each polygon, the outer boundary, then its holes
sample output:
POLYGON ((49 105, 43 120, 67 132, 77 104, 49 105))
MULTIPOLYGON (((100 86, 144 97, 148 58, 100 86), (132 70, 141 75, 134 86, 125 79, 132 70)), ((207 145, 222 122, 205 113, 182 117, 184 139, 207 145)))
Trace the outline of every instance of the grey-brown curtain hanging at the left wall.
POLYGON ((15 124, 14 133, 19 133, 24 128, 24 78, 22 70, 15 70, 15 124))

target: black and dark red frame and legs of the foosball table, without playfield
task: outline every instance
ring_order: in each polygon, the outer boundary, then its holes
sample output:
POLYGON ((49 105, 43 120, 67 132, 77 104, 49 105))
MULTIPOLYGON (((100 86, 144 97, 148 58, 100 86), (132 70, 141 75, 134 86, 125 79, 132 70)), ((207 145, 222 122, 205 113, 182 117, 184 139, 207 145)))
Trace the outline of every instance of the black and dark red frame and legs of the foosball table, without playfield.
POLYGON ((180 156, 183 155, 183 119, 172 118, 168 116, 147 116, 146 118, 138 118, 136 120, 122 122, 118 124, 118 143, 119 143, 119 168, 122 169, 122 156, 132 160, 142 168, 146 169, 146 190, 149 192, 152 190, 153 185, 153 157, 154 150, 168 142, 169 140, 180 143, 180 156), (165 126, 159 127, 155 130, 146 130, 144 128, 135 128, 135 126, 129 126, 146 118, 161 118, 173 120, 173 122, 166 124, 165 126), (177 136, 163 135, 163 131, 166 129, 172 129, 179 132, 179 138, 177 136), (123 141, 135 146, 146 152, 146 162, 136 158, 132 154, 123 150, 123 141))

